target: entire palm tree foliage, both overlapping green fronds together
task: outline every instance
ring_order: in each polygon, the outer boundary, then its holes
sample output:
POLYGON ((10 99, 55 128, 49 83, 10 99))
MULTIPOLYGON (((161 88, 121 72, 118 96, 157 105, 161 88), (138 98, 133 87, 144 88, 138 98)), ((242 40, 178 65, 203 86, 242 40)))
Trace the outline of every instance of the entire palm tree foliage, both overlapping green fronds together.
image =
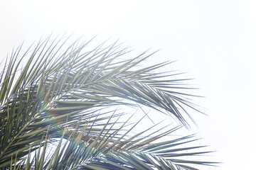
POLYGON ((189 146, 194 135, 170 136, 189 126, 185 108, 196 109, 188 94, 175 90, 189 89, 185 79, 154 72, 170 62, 142 68, 153 54, 125 59, 129 50, 117 42, 87 50, 92 40, 69 46, 67 41, 46 38, 6 59, 0 75, 0 169, 196 169, 193 164, 213 163, 193 160, 208 153, 189 146), (181 125, 166 129, 156 123, 134 133, 149 115, 131 123, 136 113, 118 106, 154 108, 181 125))

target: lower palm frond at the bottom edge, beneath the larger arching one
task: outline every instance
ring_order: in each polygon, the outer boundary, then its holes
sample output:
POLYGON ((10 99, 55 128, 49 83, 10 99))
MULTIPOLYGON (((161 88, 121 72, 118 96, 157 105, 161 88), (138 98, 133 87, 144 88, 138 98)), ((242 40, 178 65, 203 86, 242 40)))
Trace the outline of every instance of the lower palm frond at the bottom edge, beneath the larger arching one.
POLYGON ((133 128, 124 128, 126 123, 118 125, 119 128, 113 129, 117 121, 112 122, 112 118, 102 125, 100 132, 88 135, 87 129, 92 123, 85 123, 82 131, 68 129, 63 131, 63 135, 57 142, 55 151, 52 152, 50 159, 46 158, 46 147, 38 149, 38 153, 31 155, 24 162, 27 164, 18 165, 28 167, 28 169, 196 169, 188 164, 212 165, 214 162, 194 161, 189 159, 178 159, 178 157, 187 157, 208 154, 209 152, 193 152, 204 146, 181 147, 191 144, 194 135, 174 138, 164 142, 159 142, 162 137, 172 134, 181 127, 171 128, 159 132, 156 130, 151 135, 143 135, 148 132, 146 129, 139 132, 139 135, 129 135, 133 128), (112 123, 111 123, 112 122, 112 123), (120 133, 121 131, 124 131, 120 133), (64 136, 69 133, 68 140, 64 136), (154 135, 154 134, 158 135, 154 135), (120 135, 123 134, 123 135, 120 135), (179 147, 178 147, 179 146, 179 147), (40 154, 40 151, 43 152, 40 154), (40 168, 41 167, 41 168, 40 168))

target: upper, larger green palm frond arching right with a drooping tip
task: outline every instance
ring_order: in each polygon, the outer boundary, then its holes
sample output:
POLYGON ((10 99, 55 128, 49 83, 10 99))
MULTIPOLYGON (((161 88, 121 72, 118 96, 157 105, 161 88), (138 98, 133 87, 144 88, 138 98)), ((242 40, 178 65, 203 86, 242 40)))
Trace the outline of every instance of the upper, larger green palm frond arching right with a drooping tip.
MULTIPOLYGON (((56 38, 50 43, 50 38, 47 38, 38 42, 33 50, 29 48, 24 55, 19 47, 12 53, 9 64, 4 65, 0 81, 0 168, 9 165, 14 155, 16 161, 22 162, 23 157, 46 146, 48 140, 42 140, 46 132, 50 139, 69 142, 73 130, 87 133, 83 140, 86 144, 78 142, 74 145, 76 149, 85 149, 88 145, 96 147, 99 137, 116 141, 117 135, 112 138, 114 129, 105 127, 100 130, 97 127, 101 124, 95 124, 119 116, 109 115, 107 111, 98 114, 110 106, 136 107, 139 103, 161 113, 167 111, 188 126, 183 107, 196 107, 186 98, 187 94, 174 90, 183 88, 181 82, 184 79, 171 79, 174 74, 153 72, 168 63, 136 69, 153 54, 143 52, 125 60, 123 57, 129 50, 121 49, 117 42, 106 47, 104 42, 87 50, 92 40, 83 43, 78 40, 66 47, 67 41, 56 38), (26 60, 24 66, 21 65, 23 60, 26 60), (85 123, 87 128, 83 127, 85 123), (65 127, 69 130, 63 135, 65 127)), ((127 157, 126 154, 123 157, 127 157)), ((39 162, 38 157, 36 162, 39 162)), ((131 157, 139 156, 134 154, 131 157)), ((143 157, 142 162, 149 164, 152 158, 143 157)), ((99 159, 99 162, 102 161, 99 159)), ((162 159, 157 162, 167 165, 162 159)), ((121 160, 118 164, 122 164, 121 160)))

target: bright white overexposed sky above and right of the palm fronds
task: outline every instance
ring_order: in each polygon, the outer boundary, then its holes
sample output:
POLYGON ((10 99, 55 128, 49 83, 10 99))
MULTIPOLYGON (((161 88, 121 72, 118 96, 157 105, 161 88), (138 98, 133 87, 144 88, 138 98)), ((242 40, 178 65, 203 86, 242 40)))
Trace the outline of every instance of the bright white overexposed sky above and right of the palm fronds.
MULTIPOLYGON (((1 1, 0 57, 23 40, 74 33, 160 50, 150 62, 178 60, 175 69, 206 96, 199 136, 220 169, 252 169, 256 158, 256 1, 1 1)), ((170 69, 173 69, 172 67, 170 69)), ((167 70, 166 70, 167 71, 167 70)), ((215 169, 206 167, 206 170, 215 169)))

